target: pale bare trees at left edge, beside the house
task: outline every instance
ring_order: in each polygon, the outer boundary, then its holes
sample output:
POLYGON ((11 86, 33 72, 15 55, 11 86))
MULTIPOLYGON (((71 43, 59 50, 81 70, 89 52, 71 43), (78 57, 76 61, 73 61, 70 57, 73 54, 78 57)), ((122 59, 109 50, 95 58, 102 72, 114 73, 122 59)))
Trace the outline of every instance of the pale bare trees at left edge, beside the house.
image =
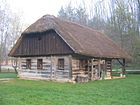
POLYGON ((3 61, 8 60, 8 52, 22 30, 21 18, 12 13, 6 0, 0 4, 0 72, 3 61))

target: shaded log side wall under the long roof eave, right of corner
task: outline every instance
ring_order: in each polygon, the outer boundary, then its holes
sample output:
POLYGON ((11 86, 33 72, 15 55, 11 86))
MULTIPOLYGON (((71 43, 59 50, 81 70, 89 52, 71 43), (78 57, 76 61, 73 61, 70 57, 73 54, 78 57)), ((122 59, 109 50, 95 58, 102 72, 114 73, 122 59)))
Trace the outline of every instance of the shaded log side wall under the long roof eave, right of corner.
POLYGON ((104 78, 104 65, 105 60, 101 59, 85 59, 85 63, 82 63, 83 67, 80 67, 80 63, 83 60, 78 58, 72 58, 72 80, 75 80, 79 75, 81 77, 87 77, 89 80, 99 80, 104 78))

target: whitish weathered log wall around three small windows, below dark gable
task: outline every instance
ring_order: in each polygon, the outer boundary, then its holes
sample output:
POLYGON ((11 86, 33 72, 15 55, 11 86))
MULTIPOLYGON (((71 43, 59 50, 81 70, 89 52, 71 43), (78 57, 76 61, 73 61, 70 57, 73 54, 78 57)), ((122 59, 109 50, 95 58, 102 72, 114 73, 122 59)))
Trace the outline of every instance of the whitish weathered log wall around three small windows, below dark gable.
MULTIPOLYGON (((36 71, 33 76, 48 79, 70 79, 71 65, 70 56, 49 56, 49 57, 27 57, 20 60, 20 73, 22 71, 36 71), (26 69, 26 59, 31 59, 31 69, 26 69), (37 59, 43 59, 43 69, 37 70, 37 59), (64 59, 64 70, 58 69, 58 59, 64 59)), ((29 72, 28 72, 29 73, 29 72)), ((33 72, 32 72, 33 73, 33 72)))

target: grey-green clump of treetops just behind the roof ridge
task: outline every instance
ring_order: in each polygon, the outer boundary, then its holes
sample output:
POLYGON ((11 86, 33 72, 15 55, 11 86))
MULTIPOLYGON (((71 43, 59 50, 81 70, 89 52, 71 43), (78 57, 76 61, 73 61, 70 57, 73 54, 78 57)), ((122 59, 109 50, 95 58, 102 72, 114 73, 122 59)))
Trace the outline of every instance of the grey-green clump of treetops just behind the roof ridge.
MULTIPOLYGON (((84 2, 82 3, 85 5, 84 2)), ((58 12, 58 17, 72 22, 77 22, 82 25, 88 24, 88 14, 86 8, 81 5, 78 5, 77 8, 72 7, 71 2, 65 8, 61 7, 58 12)))

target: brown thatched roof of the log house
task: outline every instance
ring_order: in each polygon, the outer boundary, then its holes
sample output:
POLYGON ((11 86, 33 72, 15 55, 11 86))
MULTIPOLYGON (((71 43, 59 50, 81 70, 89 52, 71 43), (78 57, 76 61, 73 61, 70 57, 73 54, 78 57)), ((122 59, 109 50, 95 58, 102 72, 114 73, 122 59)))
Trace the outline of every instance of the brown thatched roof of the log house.
MULTIPOLYGON (((77 54, 101 58, 129 57, 126 52, 124 52, 103 33, 86 26, 61 20, 51 15, 45 15, 37 20, 35 23, 30 25, 22 33, 22 35, 36 32, 45 32, 50 29, 55 30, 56 33, 59 34, 59 36, 77 54)), ((11 50, 11 52, 13 51, 11 50)))

